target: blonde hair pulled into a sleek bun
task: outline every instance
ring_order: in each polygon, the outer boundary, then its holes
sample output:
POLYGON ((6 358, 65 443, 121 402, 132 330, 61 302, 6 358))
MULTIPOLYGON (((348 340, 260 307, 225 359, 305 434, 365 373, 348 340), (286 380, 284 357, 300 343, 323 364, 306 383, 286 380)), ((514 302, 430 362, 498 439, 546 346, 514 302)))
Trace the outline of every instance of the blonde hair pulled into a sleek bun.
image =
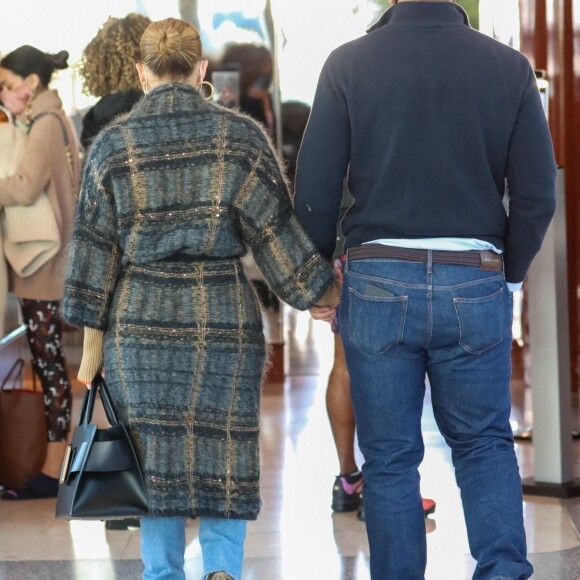
POLYGON ((201 38, 189 22, 166 18, 143 33, 141 62, 157 77, 186 79, 201 60, 201 38))

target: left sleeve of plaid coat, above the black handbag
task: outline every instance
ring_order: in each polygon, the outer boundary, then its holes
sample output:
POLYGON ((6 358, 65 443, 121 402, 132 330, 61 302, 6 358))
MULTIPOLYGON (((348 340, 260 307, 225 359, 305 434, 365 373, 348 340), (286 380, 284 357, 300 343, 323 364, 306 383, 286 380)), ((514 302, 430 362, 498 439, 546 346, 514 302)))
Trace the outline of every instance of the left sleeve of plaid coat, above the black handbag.
POLYGON ((121 249, 115 200, 103 185, 107 167, 95 159, 96 155, 98 146, 91 149, 85 164, 69 247, 62 314, 73 326, 106 330, 120 272, 121 249))

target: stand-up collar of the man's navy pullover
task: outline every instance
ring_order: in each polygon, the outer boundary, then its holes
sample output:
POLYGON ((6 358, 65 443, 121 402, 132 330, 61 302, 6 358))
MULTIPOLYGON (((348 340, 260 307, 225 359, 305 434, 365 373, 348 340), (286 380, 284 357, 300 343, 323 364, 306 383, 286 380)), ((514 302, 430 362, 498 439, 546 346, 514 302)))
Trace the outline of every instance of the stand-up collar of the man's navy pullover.
POLYGON ((469 17, 461 6, 453 2, 402 2, 385 10, 367 32, 391 23, 434 28, 469 26, 469 17))

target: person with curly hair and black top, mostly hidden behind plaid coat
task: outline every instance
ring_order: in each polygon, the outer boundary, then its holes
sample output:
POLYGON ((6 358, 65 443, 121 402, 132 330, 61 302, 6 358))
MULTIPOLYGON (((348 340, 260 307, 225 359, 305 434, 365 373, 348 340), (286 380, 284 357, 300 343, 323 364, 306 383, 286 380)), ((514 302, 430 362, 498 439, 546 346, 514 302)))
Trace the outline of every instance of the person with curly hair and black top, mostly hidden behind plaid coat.
POLYGON ((101 97, 83 117, 81 143, 85 149, 105 125, 130 111, 143 96, 135 63, 149 24, 147 16, 133 12, 124 18, 111 16, 85 47, 79 67, 83 92, 101 97))

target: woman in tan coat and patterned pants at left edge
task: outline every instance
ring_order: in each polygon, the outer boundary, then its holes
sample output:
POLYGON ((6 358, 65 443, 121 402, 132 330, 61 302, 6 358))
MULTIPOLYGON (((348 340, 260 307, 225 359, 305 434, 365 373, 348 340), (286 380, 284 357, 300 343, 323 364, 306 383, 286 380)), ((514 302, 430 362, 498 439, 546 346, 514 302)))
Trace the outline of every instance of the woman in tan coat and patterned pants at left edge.
POLYGON ((60 300, 65 253, 74 220, 80 159, 76 136, 55 90, 56 69, 67 68, 68 53, 47 54, 21 46, 0 61, 0 100, 28 138, 16 173, 0 179, 0 206, 29 206, 44 193, 58 224, 60 249, 29 276, 10 272, 10 290, 19 298, 32 365, 44 392, 47 454, 41 472, 3 499, 56 497, 58 473, 70 430, 71 386, 62 350, 60 300))

